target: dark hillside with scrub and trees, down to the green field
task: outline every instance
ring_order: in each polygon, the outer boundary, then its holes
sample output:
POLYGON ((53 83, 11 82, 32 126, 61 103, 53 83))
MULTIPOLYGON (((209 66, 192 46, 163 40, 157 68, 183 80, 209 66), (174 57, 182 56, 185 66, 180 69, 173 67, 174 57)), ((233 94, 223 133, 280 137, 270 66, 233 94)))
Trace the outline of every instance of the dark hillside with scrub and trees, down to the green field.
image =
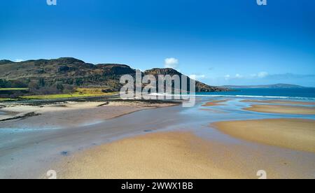
MULTIPOLYGON (((28 88, 27 94, 78 94, 82 89, 97 89, 99 94, 118 92, 123 86, 120 77, 125 74, 135 76, 136 71, 125 64, 89 64, 82 60, 64 57, 59 59, 38 59, 25 62, 0 61, 0 88, 28 88)), ((179 75, 174 69, 152 69, 143 74, 179 75)), ((211 87, 196 83, 197 92, 225 91, 221 87, 211 87)), ((1 93, 0 93, 1 95, 1 93)), ((3 97, 3 96, 2 96, 3 97)))

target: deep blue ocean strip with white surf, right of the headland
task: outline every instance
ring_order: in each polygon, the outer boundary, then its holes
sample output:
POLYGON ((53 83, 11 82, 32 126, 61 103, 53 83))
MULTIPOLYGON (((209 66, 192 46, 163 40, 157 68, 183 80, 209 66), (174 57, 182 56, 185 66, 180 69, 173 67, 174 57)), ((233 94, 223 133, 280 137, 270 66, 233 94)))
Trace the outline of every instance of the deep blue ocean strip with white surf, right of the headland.
POLYGON ((305 88, 244 88, 232 92, 200 92, 197 95, 266 97, 315 100, 315 87, 305 88))

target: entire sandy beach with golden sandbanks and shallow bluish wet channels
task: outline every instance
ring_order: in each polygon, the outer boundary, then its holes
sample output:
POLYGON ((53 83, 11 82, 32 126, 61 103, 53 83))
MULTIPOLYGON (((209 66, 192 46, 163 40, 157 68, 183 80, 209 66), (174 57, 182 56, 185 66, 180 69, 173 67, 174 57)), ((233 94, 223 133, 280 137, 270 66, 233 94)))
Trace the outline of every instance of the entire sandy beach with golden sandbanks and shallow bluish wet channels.
POLYGON ((0 117, 13 119, 0 121, 0 178, 47 178, 50 170, 57 178, 314 175, 313 115, 244 113, 249 103, 222 97, 200 98, 192 108, 177 104, 5 103, 0 117), (203 106, 209 101, 223 105, 203 106), (17 117, 27 113, 37 115, 17 117))

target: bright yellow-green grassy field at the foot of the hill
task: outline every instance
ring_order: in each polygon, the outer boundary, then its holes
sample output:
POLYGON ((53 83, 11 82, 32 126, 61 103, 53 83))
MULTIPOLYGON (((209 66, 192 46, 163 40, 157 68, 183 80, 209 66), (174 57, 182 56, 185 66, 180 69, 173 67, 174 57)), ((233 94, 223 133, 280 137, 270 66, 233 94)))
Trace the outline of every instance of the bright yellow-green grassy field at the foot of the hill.
POLYGON ((34 95, 34 96, 22 96, 22 99, 64 99, 64 98, 78 98, 78 97, 90 97, 90 96, 109 96, 117 94, 118 92, 102 92, 102 88, 77 88, 76 92, 71 94, 49 94, 49 95, 34 95))

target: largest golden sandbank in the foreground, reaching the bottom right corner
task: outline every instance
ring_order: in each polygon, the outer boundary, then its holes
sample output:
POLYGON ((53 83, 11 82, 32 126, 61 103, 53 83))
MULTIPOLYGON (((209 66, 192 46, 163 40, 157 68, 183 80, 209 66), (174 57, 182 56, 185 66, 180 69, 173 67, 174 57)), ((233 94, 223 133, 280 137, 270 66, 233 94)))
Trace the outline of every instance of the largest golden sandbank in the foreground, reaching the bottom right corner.
MULTIPOLYGON (((126 138, 66 157, 58 178, 312 178, 314 159, 253 145, 207 141, 190 132, 126 138)), ((264 146, 265 147, 265 146, 264 146)), ((304 153, 304 152, 302 152, 304 153)))

